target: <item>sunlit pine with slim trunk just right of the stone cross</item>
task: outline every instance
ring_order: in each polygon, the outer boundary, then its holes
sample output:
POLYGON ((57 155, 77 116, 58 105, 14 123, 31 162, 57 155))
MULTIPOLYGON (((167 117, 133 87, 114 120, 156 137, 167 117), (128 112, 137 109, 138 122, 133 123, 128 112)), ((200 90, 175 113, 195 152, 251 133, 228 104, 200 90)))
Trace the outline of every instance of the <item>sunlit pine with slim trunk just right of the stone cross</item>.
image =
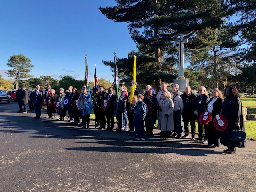
POLYGON ((204 85, 223 88, 236 71, 236 50, 240 40, 228 26, 206 28, 192 38, 189 45, 192 70, 205 71, 204 85), (232 69, 232 71, 231 71, 232 69))

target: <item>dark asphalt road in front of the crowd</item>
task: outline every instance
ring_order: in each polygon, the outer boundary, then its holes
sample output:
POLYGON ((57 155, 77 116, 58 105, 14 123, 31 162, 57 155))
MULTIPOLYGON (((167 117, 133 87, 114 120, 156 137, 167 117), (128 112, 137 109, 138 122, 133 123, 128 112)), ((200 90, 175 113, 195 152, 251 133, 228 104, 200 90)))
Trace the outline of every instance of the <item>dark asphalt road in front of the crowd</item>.
POLYGON ((0 104, 0 192, 256 191, 255 141, 223 154, 225 146, 137 141, 17 110, 17 102, 0 104))

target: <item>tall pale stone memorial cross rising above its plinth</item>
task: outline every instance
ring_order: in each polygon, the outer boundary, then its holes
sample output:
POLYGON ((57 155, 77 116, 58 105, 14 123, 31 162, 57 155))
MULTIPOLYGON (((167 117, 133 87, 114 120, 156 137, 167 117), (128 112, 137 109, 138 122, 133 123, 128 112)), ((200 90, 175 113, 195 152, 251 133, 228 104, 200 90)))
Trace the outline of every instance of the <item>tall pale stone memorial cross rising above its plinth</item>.
POLYGON ((175 41, 175 44, 179 44, 179 74, 178 79, 185 79, 184 77, 184 43, 188 43, 188 39, 183 39, 183 34, 180 34, 180 38, 175 41))

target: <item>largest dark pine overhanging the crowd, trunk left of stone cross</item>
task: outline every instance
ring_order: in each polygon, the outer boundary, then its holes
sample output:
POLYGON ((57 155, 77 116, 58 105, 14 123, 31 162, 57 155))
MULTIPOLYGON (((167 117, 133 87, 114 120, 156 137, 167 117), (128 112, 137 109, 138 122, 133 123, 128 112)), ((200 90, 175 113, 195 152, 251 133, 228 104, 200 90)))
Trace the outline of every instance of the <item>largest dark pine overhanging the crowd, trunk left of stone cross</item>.
MULTIPOLYGON (((113 7, 100 11, 114 22, 127 22, 134 41, 155 58, 156 90, 161 84, 162 66, 173 58, 174 40, 180 33, 186 38, 198 30, 222 23, 221 0, 116 0, 113 7), (142 31, 142 33, 141 33, 142 31), (159 75, 158 75, 159 74, 159 75)), ((173 64, 172 64, 173 65, 173 64)))

